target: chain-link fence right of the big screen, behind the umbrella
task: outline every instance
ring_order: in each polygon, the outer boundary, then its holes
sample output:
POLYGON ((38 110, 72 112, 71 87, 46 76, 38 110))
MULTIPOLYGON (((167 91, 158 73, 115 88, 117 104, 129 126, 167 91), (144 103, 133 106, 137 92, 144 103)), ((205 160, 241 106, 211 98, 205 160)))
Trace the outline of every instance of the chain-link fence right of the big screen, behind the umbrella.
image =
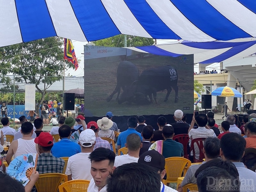
MULTIPOLYGON (((235 98, 235 97, 220 97, 220 96, 212 96, 212 108, 207 109, 208 111, 214 112, 216 115, 214 118, 221 119, 224 116, 224 110, 223 106, 224 103, 227 102, 228 105, 228 115, 229 114, 242 114, 247 112, 248 109, 253 109, 254 106, 254 98, 253 95, 244 95, 245 88, 244 86, 246 84, 251 84, 252 82, 249 81, 207 81, 207 80, 197 80, 198 83, 202 84, 201 94, 211 94, 212 91, 219 87, 232 87, 235 88, 238 92, 240 92, 243 97, 242 98, 235 98), (246 100, 246 103, 250 103, 251 105, 247 108, 244 107, 244 101, 246 100), (249 101, 248 101, 249 100, 249 101), (222 111, 222 113, 221 113, 222 111)), ((201 111, 204 111, 205 109, 201 106, 201 98, 196 100, 197 105, 199 106, 201 111)))

